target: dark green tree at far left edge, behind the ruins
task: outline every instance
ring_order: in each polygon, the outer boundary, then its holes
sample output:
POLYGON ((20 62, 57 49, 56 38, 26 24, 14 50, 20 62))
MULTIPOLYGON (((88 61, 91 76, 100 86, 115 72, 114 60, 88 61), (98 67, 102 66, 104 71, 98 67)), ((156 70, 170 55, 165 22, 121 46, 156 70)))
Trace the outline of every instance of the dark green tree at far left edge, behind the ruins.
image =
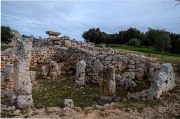
POLYGON ((11 33, 11 29, 8 26, 1 26, 1 42, 10 43, 14 35, 11 33))

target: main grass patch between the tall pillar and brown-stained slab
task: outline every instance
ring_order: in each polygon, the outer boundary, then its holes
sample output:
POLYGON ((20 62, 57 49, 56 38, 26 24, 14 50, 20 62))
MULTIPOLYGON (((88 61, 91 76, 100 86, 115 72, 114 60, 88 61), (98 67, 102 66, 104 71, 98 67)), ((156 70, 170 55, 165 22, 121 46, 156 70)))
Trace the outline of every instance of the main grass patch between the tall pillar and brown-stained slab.
POLYGON ((36 79, 36 81, 38 85, 32 91, 36 108, 63 108, 63 101, 68 98, 73 99, 74 105, 81 108, 99 103, 100 90, 96 85, 88 84, 81 89, 74 88, 75 80, 69 78, 63 81, 47 79, 36 79))

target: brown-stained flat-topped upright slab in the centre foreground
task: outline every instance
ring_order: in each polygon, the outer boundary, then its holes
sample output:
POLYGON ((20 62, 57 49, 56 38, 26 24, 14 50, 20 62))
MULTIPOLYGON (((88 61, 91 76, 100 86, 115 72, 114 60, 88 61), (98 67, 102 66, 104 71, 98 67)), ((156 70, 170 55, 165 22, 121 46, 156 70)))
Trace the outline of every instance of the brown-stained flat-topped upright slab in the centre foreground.
POLYGON ((99 86, 101 91, 101 100, 103 102, 112 102, 116 98, 115 68, 113 66, 104 66, 99 72, 99 86))

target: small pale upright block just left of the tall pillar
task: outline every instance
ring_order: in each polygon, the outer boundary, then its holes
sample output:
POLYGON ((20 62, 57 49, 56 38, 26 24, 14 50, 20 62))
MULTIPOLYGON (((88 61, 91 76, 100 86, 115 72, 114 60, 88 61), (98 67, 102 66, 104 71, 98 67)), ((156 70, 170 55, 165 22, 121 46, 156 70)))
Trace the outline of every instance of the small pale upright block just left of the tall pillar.
POLYGON ((13 81, 14 65, 8 64, 4 69, 4 79, 7 81, 13 81))

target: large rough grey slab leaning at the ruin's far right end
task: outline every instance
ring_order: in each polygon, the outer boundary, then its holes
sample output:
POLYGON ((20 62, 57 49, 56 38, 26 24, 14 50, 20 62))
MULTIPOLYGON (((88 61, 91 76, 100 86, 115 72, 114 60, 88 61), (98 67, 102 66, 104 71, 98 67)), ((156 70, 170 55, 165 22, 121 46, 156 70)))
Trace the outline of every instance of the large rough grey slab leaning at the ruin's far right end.
POLYGON ((163 63, 160 71, 156 72, 151 87, 148 90, 147 100, 159 99, 164 92, 175 87, 174 71, 171 63, 163 63))

